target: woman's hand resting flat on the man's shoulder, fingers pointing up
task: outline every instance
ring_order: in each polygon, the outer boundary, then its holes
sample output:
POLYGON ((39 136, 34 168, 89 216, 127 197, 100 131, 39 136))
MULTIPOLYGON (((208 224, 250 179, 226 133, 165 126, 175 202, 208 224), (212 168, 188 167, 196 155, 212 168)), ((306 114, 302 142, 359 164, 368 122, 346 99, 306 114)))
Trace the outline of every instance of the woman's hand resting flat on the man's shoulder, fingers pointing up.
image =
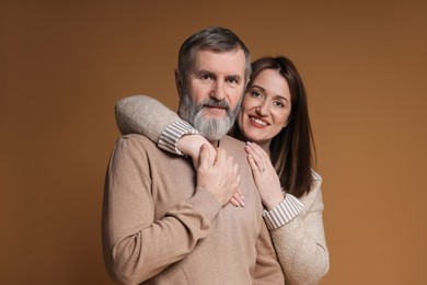
POLYGON ((272 209, 284 200, 280 181, 276 170, 274 169, 267 152, 258 145, 247 142, 245 150, 261 200, 267 209, 272 209))

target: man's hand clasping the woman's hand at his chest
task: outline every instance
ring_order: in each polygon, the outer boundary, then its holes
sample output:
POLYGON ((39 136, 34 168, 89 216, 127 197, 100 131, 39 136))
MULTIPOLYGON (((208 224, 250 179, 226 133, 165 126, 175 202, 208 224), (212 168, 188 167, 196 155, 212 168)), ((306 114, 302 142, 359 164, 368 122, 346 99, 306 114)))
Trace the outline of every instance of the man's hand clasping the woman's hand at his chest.
POLYGON ((235 192, 240 193, 239 166, 233 162, 233 158, 228 156, 224 149, 217 149, 214 164, 209 163, 212 160, 210 156, 209 146, 204 144, 200 148, 197 168, 197 187, 212 193, 224 206, 235 192))

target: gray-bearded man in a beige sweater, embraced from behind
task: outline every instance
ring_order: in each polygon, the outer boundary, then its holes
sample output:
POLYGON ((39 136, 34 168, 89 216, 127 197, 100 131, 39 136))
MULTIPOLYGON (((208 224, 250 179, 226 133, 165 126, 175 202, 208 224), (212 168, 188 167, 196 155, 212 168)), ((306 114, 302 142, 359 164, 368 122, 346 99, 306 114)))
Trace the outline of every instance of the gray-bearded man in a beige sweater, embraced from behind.
POLYGON ((207 146, 201 148, 197 175, 189 159, 168 155, 143 136, 117 140, 103 208, 104 256, 113 278, 284 284, 243 145, 226 136, 250 72, 249 50, 230 30, 209 27, 182 45, 175 71, 180 116, 219 146, 212 166, 207 146), (229 204, 239 186, 244 207, 229 204))

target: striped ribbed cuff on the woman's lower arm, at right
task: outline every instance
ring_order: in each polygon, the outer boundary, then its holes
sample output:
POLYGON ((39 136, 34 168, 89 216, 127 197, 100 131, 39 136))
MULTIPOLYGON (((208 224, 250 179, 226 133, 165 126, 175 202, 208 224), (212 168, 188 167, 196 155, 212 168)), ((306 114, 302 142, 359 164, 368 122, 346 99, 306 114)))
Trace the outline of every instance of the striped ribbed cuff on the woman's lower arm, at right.
POLYGON ((278 229, 291 221, 304 207, 298 198, 286 194, 284 201, 270 210, 264 210, 263 217, 268 229, 278 229))

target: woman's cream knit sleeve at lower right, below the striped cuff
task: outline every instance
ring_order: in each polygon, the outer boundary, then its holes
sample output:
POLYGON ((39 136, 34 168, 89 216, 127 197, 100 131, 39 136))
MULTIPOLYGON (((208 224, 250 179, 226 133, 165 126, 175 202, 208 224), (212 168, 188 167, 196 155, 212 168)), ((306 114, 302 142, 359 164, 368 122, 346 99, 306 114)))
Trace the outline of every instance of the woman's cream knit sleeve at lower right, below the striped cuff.
POLYGON ((323 200, 316 175, 309 194, 301 197, 304 208, 282 227, 270 230, 286 284, 318 284, 327 273, 330 255, 323 228, 323 200))

